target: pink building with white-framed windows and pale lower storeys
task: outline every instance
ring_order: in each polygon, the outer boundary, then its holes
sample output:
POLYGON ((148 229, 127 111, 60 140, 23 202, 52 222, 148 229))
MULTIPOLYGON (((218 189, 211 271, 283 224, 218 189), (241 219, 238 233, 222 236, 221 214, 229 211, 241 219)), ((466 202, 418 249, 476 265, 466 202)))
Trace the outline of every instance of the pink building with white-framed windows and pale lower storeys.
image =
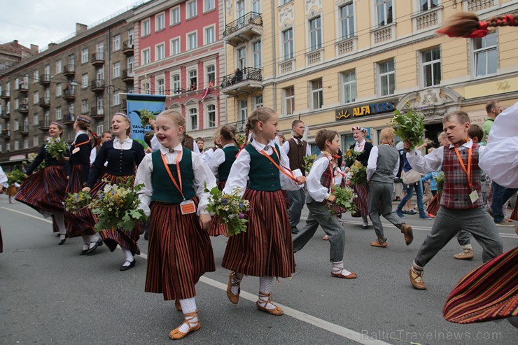
POLYGON ((226 121, 218 83, 225 68, 223 0, 151 1, 130 20, 135 92, 165 94, 166 108, 186 118, 188 134, 211 146, 226 121))

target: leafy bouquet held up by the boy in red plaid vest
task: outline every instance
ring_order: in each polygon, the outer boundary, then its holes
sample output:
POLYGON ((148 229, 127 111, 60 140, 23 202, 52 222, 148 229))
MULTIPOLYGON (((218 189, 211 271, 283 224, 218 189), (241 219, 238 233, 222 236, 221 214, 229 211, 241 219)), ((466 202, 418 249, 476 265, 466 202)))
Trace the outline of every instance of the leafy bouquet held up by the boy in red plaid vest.
POLYGON ((409 141, 412 146, 419 146, 423 143, 424 115, 411 108, 408 101, 403 112, 399 110, 394 111, 394 117, 388 124, 396 127, 396 136, 409 141))

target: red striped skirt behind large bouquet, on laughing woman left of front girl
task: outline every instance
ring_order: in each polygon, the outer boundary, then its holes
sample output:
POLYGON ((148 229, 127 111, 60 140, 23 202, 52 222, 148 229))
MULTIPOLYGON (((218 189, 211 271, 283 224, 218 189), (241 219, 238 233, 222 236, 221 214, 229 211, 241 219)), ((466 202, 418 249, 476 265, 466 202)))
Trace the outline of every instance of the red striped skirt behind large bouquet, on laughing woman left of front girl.
MULTIPOLYGON (((111 174, 104 174, 101 178, 101 182, 97 183, 97 185, 92 188, 90 193, 92 194, 92 198, 97 197, 99 190, 103 190, 106 183, 103 181, 107 179, 110 183, 126 183, 128 178, 133 176, 116 176, 111 174)), ((95 225, 95 217, 94 214, 88 210, 90 213, 90 227, 94 227, 95 225)), ((141 223, 137 223, 132 231, 125 231, 121 229, 103 229, 99 232, 104 244, 109 248, 110 251, 115 251, 117 245, 121 246, 132 252, 133 255, 140 254, 139 246, 137 245, 137 241, 139 241, 140 234, 142 234, 142 230, 144 230, 144 226, 141 223)))

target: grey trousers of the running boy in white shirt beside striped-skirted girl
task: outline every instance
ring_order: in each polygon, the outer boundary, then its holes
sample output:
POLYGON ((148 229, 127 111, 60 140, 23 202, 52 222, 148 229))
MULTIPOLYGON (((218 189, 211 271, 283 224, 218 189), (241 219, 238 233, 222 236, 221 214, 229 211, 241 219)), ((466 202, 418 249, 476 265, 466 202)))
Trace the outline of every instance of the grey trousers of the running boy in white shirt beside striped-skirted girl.
POLYGON ((293 253, 297 253, 304 248, 320 225, 329 237, 331 262, 344 260, 345 230, 338 217, 330 213, 326 204, 309 202, 307 208, 309 209, 309 216, 306 226, 293 237, 293 253))

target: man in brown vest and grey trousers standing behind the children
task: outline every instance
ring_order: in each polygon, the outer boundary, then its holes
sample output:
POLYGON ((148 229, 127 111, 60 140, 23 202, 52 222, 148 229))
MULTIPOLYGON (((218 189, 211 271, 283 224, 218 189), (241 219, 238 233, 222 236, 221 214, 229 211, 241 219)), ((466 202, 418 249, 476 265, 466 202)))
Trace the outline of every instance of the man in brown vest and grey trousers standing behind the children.
MULTIPOLYGON (((311 155, 311 150, 307 141, 302 139, 306 126, 303 121, 295 120, 291 123, 291 129, 293 130, 293 136, 284 143, 282 150, 290 159, 291 171, 300 169, 300 171, 302 171, 302 175, 304 175, 304 157, 311 155)), ((288 190, 287 192, 288 198, 290 199, 288 215, 290 216, 291 233, 297 234, 297 232, 299 232, 297 225, 300 222, 300 214, 304 207, 304 190, 300 188, 300 190, 288 190)))

